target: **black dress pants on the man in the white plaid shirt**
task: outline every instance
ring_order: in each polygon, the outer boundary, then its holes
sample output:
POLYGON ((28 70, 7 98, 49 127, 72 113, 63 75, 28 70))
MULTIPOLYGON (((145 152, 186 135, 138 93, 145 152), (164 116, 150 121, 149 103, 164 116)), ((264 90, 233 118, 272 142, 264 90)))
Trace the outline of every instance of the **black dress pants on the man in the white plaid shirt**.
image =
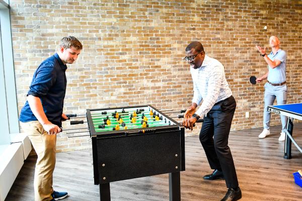
POLYGON ((204 117, 199 140, 211 169, 222 171, 226 187, 238 187, 236 169, 228 146, 236 101, 233 96, 215 104, 204 117))

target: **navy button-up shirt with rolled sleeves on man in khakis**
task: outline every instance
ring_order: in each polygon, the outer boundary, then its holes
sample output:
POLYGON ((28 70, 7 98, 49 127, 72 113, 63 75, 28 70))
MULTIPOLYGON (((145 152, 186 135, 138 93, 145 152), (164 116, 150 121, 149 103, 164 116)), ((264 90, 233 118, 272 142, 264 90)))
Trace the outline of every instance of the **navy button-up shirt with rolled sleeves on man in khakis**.
MULTIPOLYGON (((66 69, 67 66, 63 64, 57 53, 44 60, 36 69, 27 94, 40 98, 48 121, 59 127, 62 125, 61 117, 67 84, 66 69)), ((21 110, 19 120, 37 121, 28 101, 21 110)))

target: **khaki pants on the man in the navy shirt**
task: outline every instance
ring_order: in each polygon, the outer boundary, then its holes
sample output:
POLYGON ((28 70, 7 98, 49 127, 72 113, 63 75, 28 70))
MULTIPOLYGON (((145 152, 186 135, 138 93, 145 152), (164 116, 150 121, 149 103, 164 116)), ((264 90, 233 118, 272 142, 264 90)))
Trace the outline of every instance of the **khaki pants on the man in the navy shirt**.
POLYGON ((20 124, 38 155, 34 178, 35 201, 51 200, 56 135, 48 135, 39 121, 20 122, 20 124))

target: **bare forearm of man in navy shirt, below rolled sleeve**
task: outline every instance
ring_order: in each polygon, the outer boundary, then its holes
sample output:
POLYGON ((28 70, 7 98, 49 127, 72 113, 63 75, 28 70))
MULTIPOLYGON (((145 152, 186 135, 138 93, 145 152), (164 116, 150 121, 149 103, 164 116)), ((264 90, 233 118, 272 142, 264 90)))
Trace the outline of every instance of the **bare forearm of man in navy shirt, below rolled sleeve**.
POLYGON ((40 98, 33 96, 33 95, 29 95, 29 96, 27 96, 27 100, 28 100, 30 109, 32 110, 33 114, 38 119, 38 121, 42 125, 49 123, 49 121, 44 113, 40 98))

